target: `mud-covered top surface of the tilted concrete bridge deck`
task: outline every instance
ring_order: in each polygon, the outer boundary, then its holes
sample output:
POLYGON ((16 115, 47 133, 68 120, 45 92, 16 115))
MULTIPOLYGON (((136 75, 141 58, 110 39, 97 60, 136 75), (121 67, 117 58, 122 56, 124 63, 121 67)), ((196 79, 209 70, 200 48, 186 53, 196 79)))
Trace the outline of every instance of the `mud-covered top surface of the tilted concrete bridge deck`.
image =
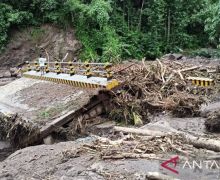
MULTIPOLYGON (((22 139, 27 137, 27 134, 26 136, 25 134, 19 134, 16 129, 18 126, 22 126, 21 129, 25 127, 22 133, 28 133, 28 139, 31 139, 31 134, 37 135, 38 132, 41 132, 40 129, 44 129, 45 125, 48 126, 50 123, 53 125, 54 120, 64 117, 69 112, 71 112, 69 115, 71 118, 68 117, 68 121, 74 119, 74 112, 84 107, 90 101, 90 98, 98 93, 98 89, 80 89, 63 84, 21 78, 0 87, 0 112, 4 115, 0 122, 4 123, 4 119, 7 119, 7 121, 13 120, 12 123, 9 123, 13 127, 9 128, 13 135, 8 132, 12 139, 7 138, 13 142, 16 138, 14 143, 21 143, 22 139), (13 115, 16 115, 17 118, 11 119, 10 116, 13 117, 13 115), (13 126, 13 124, 16 124, 16 126, 13 126)), ((65 119, 64 122, 68 121, 65 119)), ((62 125, 63 122, 59 122, 59 126, 62 125)), ((51 127, 49 127, 49 131, 47 129, 43 131, 44 136, 42 138, 48 136, 48 133, 57 128, 57 126, 51 127)))

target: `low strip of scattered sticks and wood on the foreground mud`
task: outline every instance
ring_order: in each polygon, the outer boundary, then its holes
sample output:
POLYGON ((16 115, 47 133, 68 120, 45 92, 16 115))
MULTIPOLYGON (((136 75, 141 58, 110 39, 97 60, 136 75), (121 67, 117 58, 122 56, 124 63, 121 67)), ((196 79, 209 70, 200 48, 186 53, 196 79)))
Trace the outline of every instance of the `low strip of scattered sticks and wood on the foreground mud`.
POLYGON ((194 154, 194 147, 187 144, 183 135, 170 134, 164 136, 126 135, 117 140, 97 137, 93 144, 84 144, 83 149, 99 154, 102 159, 147 158, 157 159, 158 155, 176 152, 178 154, 194 154))

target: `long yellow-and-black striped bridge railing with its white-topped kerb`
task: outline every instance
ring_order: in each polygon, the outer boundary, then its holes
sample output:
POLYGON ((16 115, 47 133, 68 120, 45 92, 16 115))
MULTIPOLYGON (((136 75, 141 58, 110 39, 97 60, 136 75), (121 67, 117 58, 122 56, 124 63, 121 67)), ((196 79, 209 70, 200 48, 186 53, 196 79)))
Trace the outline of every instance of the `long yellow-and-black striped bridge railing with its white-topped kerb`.
POLYGON ((110 63, 75 63, 75 62, 46 62, 44 68, 39 63, 27 63, 27 72, 24 77, 52 81, 81 88, 104 88, 112 89, 119 85, 113 79, 110 63), (40 71, 45 73, 39 74, 40 71), (69 75, 69 77, 68 77, 69 75))

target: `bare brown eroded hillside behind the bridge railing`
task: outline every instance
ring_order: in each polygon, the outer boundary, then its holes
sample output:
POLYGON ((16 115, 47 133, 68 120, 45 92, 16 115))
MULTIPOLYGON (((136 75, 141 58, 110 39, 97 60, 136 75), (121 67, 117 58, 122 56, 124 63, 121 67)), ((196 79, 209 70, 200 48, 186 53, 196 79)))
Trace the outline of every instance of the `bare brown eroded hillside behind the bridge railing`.
POLYGON ((46 56, 45 49, 51 60, 62 59, 69 53, 70 59, 77 56, 80 43, 76 40, 72 29, 62 30, 52 25, 14 30, 5 52, 0 55, 0 67, 11 67, 25 61, 33 61, 39 53, 46 56))

